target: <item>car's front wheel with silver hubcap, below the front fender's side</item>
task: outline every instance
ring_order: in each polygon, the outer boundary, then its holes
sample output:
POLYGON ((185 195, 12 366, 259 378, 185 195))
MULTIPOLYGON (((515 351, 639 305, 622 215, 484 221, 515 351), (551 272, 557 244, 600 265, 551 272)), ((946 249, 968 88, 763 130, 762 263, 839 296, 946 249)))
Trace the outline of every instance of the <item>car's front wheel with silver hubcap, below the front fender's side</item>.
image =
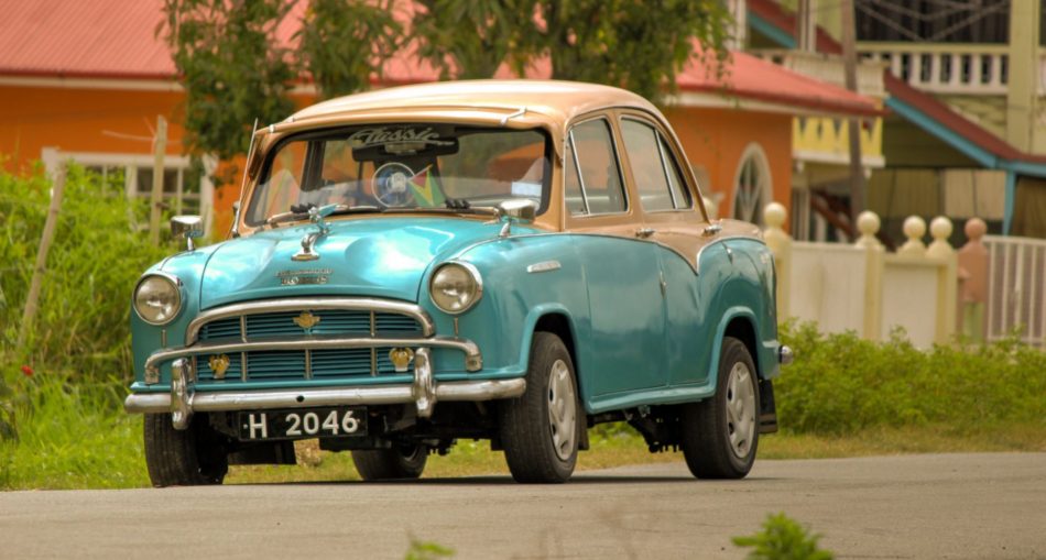
POLYGON ((501 444, 516 482, 566 482, 577 464, 578 396, 570 353, 549 332, 535 332, 526 392, 500 407, 501 444))

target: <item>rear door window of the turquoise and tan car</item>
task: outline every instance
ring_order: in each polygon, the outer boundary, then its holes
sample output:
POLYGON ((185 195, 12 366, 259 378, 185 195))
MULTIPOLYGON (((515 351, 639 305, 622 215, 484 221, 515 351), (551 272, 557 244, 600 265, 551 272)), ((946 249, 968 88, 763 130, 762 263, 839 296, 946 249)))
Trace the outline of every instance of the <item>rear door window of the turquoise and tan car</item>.
POLYGON ((661 133, 634 119, 622 120, 621 131, 643 209, 689 208, 690 198, 683 175, 661 133))

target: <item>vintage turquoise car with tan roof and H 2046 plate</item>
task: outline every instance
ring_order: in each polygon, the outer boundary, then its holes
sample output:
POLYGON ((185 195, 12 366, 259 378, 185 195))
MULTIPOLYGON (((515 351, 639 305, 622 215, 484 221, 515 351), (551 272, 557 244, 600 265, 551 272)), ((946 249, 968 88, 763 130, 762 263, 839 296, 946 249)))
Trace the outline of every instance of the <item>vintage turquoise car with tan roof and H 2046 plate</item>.
POLYGON ((458 439, 564 482, 628 421, 698 477, 776 429, 774 261, 712 221, 675 134, 630 92, 460 81, 326 101, 254 133, 231 239, 134 288, 153 484, 351 451, 413 479, 458 439))

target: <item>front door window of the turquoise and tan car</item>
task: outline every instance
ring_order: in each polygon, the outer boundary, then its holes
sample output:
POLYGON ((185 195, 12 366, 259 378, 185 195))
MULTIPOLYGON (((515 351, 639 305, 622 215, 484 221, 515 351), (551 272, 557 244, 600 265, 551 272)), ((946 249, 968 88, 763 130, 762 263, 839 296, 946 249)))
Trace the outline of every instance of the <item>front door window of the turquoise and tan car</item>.
POLYGON ((623 212, 628 207, 606 119, 570 131, 565 180, 567 209, 574 216, 623 212))

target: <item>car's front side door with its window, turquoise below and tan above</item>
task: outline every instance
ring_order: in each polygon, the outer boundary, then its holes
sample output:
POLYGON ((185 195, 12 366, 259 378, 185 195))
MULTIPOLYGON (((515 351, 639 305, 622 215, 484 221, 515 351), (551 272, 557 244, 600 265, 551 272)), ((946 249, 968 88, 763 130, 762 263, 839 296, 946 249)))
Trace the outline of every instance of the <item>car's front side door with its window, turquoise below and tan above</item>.
POLYGON ((664 300, 657 246, 636 238, 639 223, 606 114, 567 136, 564 194, 567 229, 584 270, 590 334, 578 344, 582 383, 592 396, 663 386, 664 300))

